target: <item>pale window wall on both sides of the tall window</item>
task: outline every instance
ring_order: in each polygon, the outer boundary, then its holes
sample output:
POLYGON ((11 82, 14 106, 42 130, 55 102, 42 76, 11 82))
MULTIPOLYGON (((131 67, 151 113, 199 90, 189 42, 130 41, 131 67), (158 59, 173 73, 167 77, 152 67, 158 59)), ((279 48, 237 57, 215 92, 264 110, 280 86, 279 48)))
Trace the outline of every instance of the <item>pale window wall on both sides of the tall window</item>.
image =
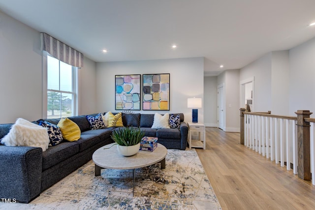
MULTIPOLYGON (((40 33, 0 11, 0 123, 19 117, 42 118, 42 51, 40 33)), ((80 69, 79 113, 96 112, 95 62, 80 69)))

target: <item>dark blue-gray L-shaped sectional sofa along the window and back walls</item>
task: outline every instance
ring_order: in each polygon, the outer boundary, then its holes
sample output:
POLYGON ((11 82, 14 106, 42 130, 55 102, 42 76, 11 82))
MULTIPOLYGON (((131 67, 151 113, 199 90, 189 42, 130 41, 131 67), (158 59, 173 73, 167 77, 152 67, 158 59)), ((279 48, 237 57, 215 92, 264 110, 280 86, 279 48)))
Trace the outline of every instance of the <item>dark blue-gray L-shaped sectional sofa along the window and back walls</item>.
MULTIPOLYGON (((97 114, 92 114, 92 116, 97 114)), ((152 129, 154 114, 123 113, 123 124, 124 126, 139 126, 140 124, 146 136, 158 137, 158 143, 166 148, 185 150, 188 126, 184 122, 184 114, 180 114, 180 118, 179 130, 152 129)), ((85 115, 73 116, 69 119, 81 130, 81 138, 78 141, 64 140, 56 146, 49 147, 45 152, 42 152, 39 147, 0 144, 0 198, 29 203, 40 192, 90 161, 96 149, 113 143, 110 135, 112 130, 117 128, 91 130, 85 115)), ((55 125, 59 120, 59 118, 45 119, 55 125)), ((33 123, 38 124, 38 122, 33 123)), ((10 131, 12 125, 0 124, 0 139, 10 131)))

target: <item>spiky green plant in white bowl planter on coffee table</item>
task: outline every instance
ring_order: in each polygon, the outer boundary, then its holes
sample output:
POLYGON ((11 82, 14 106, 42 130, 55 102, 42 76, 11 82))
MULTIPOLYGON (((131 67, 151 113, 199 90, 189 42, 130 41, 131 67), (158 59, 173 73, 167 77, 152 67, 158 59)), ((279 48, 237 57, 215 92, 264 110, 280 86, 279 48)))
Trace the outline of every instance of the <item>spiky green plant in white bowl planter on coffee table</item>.
POLYGON ((144 131, 140 128, 124 127, 114 130, 111 138, 117 143, 117 151, 123 156, 133 156, 140 149, 144 131))

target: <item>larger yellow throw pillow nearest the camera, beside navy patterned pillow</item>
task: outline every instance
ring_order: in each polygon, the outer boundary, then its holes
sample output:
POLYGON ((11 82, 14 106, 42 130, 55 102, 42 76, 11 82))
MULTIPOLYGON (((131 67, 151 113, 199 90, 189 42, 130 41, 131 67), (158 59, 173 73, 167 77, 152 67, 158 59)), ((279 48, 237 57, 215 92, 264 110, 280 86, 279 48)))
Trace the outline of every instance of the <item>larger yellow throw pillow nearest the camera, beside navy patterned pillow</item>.
POLYGON ((57 125, 63 133, 63 139, 67 141, 77 141, 80 138, 81 131, 77 124, 68 118, 61 118, 57 125))

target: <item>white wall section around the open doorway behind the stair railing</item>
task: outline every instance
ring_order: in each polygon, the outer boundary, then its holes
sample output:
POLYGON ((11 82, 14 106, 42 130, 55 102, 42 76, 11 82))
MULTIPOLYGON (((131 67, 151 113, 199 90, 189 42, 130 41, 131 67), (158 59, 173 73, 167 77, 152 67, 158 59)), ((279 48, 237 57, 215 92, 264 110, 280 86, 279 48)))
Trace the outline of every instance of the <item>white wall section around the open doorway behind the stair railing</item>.
POLYGON ((255 80, 252 111, 271 110, 271 58, 272 54, 267 53, 240 70, 239 81, 255 80))

